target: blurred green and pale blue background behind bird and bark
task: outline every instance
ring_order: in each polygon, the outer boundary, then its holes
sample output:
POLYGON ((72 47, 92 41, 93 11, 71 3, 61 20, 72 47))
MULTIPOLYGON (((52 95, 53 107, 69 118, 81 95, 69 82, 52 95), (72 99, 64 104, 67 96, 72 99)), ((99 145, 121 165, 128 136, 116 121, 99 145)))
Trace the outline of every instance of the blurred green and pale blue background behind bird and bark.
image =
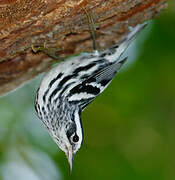
POLYGON ((175 180, 175 1, 139 35, 129 61, 83 112, 70 176, 37 118, 42 75, 0 98, 0 180, 175 180))

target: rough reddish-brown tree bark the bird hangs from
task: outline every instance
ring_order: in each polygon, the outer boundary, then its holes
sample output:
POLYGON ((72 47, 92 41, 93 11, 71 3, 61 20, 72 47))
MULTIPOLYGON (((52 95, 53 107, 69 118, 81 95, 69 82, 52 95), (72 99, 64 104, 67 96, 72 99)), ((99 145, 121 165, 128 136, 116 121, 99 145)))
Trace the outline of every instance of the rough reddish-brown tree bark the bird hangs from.
POLYGON ((115 44, 134 26, 152 19, 166 0, 0 0, 0 95, 46 71, 53 59, 31 45, 61 47, 65 57, 92 50, 82 7, 93 15, 98 49, 115 44))

